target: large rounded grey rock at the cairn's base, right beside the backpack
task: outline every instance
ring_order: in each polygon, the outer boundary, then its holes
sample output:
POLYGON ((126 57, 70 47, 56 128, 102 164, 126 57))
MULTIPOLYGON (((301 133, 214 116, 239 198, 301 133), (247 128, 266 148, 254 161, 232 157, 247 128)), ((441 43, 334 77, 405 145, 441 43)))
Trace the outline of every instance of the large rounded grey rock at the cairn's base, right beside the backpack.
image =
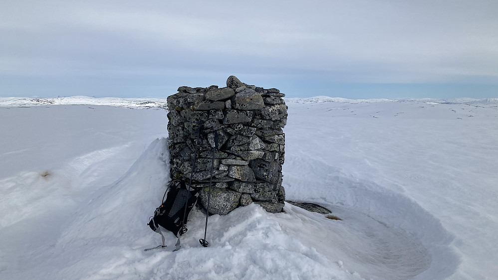
POLYGON ((204 208, 207 208, 208 205, 208 195, 210 195, 209 212, 211 214, 227 215, 237 208, 242 193, 222 188, 212 188, 210 192, 209 188, 203 188, 200 191, 200 198, 204 208))

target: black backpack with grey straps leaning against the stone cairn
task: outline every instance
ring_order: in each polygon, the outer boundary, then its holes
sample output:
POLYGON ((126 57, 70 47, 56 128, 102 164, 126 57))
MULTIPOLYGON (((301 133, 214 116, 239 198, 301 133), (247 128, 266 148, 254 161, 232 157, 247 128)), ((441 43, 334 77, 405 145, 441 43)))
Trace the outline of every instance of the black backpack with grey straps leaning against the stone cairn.
POLYGON ((153 231, 161 234, 164 245, 164 236, 159 226, 171 231, 176 237, 187 232, 185 224, 192 208, 196 205, 199 198, 199 192, 187 189, 185 181, 173 180, 168 185, 168 196, 166 192, 163 196, 161 206, 156 208, 154 216, 151 217, 147 224, 153 231), (164 197, 166 196, 166 200, 164 197))

